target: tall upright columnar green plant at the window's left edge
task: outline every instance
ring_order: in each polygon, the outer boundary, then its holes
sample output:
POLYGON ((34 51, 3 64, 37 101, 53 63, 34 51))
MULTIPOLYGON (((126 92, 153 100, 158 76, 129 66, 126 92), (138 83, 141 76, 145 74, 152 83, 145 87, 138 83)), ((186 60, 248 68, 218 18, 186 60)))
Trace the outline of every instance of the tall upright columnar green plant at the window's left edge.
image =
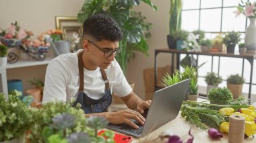
POLYGON ((181 30, 181 11, 183 2, 181 0, 170 0, 170 35, 174 36, 174 32, 181 30))

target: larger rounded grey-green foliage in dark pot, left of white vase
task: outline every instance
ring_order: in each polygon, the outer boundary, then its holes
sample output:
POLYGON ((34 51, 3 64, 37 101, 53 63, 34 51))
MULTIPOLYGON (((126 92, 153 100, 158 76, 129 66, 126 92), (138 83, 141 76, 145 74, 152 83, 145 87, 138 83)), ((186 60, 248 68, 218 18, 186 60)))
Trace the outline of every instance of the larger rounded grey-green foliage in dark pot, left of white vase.
POLYGON ((241 40, 240 36, 241 34, 238 32, 227 32, 223 38, 223 43, 226 46, 238 44, 241 40))

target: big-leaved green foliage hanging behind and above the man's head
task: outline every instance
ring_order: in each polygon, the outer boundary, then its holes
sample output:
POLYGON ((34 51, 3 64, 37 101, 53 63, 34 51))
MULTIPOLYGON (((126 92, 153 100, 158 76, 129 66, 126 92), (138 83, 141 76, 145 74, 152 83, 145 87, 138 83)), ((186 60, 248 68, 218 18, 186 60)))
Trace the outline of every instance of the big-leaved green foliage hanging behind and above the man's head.
POLYGON ((89 0, 85 1, 82 9, 77 14, 78 21, 84 21, 91 15, 104 13, 113 17, 123 32, 123 40, 119 41, 121 53, 116 56, 123 73, 127 73, 127 62, 133 56, 135 50, 148 54, 148 44, 144 30, 150 28, 145 18, 132 15, 132 8, 140 2, 150 5, 152 9, 157 7, 150 0, 89 0))

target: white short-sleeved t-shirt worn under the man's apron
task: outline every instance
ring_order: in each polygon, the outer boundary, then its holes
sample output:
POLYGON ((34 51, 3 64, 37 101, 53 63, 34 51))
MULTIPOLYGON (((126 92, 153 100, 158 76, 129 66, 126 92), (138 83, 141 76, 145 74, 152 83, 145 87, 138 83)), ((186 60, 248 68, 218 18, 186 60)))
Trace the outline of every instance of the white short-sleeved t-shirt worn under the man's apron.
MULTIPOLYGON (((79 50, 81 51, 81 50, 79 50)), ((111 93, 125 97, 131 93, 123 71, 117 60, 105 69, 111 93)), ((49 101, 70 101, 79 89, 79 70, 77 53, 61 54, 54 58, 46 68, 44 97, 42 103, 49 101)), ((100 72, 84 68, 84 93, 92 99, 100 99, 105 92, 105 83, 100 72)))

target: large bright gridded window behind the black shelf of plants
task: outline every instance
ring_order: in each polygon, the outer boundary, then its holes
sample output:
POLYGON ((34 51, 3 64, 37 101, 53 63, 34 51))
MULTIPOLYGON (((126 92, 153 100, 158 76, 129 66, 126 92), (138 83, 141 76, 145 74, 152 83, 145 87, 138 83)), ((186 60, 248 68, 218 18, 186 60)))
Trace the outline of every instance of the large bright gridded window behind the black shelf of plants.
MULTIPOLYGON (((236 32, 241 32, 241 38, 244 42, 245 29, 249 25, 249 20, 243 15, 235 17, 233 11, 236 10, 236 5, 241 0, 183 0, 183 12, 182 12, 182 26, 183 30, 192 32, 193 30, 203 30, 205 31, 205 38, 214 38, 217 33, 220 32, 230 32, 232 30, 236 32)), ((253 1, 253 0, 249 0, 253 1)), ((238 52, 238 47, 236 51, 238 52)), ((181 59, 185 55, 181 56, 181 59)), ((199 64, 206 62, 203 66, 199 68, 199 85, 206 86, 204 81, 204 76, 207 72, 218 73, 218 57, 213 58, 213 69, 212 57, 211 56, 199 56, 199 64)), ((220 58, 220 70, 219 74, 222 79, 227 79, 229 75, 232 74, 242 74, 243 60, 240 58, 220 58), (235 63, 235 64, 234 64, 235 63), (230 65, 230 66, 227 66, 230 65), (232 66, 231 66, 232 65, 232 66)), ((256 64, 254 63, 254 73, 256 71, 256 64)), ((250 76, 250 64, 245 60, 245 68, 243 77, 245 81, 249 83, 250 76)), ((256 93, 256 76, 253 77, 253 86, 251 92, 256 93)), ((220 87, 226 86, 226 81, 224 81, 220 87)), ((249 85, 245 84, 243 87, 243 92, 249 92, 249 85)))

